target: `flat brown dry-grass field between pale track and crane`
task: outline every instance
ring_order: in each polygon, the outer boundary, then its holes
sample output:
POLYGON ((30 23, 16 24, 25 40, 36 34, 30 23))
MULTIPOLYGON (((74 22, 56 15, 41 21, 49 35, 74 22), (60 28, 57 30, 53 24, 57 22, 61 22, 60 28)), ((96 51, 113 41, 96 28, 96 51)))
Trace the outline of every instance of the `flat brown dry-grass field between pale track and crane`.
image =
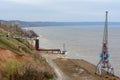
POLYGON ((59 58, 55 59, 54 62, 70 80, 117 80, 117 77, 107 74, 105 71, 104 76, 96 75, 95 65, 84 60, 59 58))

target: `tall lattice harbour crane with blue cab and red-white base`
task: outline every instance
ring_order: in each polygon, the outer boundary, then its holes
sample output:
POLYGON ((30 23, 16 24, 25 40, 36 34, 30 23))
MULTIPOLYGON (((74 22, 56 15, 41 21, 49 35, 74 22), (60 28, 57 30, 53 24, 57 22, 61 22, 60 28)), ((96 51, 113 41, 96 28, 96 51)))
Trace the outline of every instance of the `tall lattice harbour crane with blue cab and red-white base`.
POLYGON ((96 74, 102 76, 102 69, 104 69, 109 74, 114 75, 114 69, 109 62, 109 53, 108 53, 108 11, 106 11, 106 15, 105 15, 102 53, 100 54, 100 58, 101 59, 97 64, 96 74))

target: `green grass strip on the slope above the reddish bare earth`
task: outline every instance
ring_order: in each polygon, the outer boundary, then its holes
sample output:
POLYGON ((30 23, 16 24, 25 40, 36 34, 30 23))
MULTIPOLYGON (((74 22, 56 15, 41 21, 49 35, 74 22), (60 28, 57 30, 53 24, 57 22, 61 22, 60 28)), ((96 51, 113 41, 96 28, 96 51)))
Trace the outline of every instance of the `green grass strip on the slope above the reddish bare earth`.
POLYGON ((22 55, 23 51, 32 54, 32 50, 28 47, 25 40, 20 41, 9 37, 0 37, 0 48, 8 49, 18 55, 22 55))

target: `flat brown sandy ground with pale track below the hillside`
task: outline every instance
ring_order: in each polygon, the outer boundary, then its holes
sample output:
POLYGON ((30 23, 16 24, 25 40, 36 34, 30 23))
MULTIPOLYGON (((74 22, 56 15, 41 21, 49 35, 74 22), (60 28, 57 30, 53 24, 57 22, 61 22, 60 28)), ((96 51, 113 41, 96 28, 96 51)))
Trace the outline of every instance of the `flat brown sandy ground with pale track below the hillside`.
POLYGON ((55 80, 120 80, 103 72, 100 77, 95 74, 95 65, 80 59, 68 59, 61 54, 41 53, 54 68, 55 80))

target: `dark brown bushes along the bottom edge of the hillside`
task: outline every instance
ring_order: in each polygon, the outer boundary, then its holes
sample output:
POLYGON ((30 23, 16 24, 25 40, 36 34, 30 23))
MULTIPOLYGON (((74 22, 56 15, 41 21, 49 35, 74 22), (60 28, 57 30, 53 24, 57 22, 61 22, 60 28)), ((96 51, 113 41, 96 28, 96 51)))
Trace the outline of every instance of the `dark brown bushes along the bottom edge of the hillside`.
POLYGON ((38 71, 32 67, 26 67, 24 73, 21 75, 18 71, 10 75, 9 80, 50 80, 53 75, 49 72, 38 71))

